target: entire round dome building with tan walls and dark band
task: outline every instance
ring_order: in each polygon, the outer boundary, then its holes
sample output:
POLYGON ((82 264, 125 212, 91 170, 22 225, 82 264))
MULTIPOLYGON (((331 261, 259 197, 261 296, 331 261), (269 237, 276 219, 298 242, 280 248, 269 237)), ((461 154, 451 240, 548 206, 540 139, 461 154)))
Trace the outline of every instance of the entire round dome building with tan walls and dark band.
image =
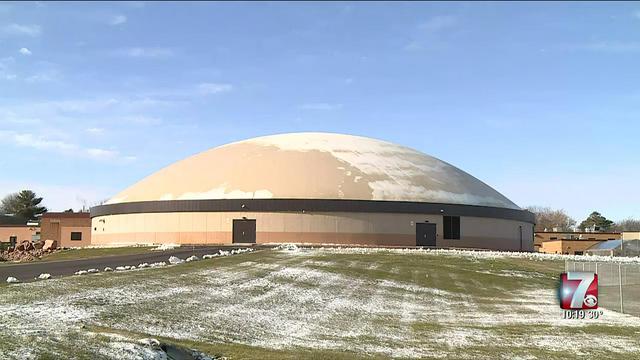
POLYGON ((92 244, 324 243, 533 250, 532 213, 365 137, 293 133, 188 157, 91 209, 92 244))

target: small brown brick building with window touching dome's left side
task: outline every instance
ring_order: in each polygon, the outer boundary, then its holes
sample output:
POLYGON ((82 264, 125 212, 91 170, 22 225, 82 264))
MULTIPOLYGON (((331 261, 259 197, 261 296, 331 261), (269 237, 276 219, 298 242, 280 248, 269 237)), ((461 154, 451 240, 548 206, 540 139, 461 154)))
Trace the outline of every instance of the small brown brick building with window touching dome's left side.
POLYGON ((42 215, 40 238, 56 240, 61 247, 82 247, 91 244, 89 213, 52 213, 42 215))

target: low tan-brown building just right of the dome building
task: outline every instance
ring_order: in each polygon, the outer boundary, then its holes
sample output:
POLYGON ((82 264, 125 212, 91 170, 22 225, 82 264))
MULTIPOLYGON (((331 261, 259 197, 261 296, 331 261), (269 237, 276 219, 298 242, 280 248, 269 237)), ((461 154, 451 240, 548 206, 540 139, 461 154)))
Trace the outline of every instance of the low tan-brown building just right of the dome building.
POLYGON ((591 246, 607 240, 619 240, 619 232, 536 232, 534 248, 549 254, 582 255, 591 246))

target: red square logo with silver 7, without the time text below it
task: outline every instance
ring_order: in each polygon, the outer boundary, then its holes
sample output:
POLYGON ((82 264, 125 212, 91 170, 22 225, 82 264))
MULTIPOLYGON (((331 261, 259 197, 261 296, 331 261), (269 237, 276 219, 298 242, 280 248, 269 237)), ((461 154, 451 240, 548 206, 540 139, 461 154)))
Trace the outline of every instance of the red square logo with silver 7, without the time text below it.
POLYGON ((560 307, 565 310, 598 308, 598 274, 567 272, 560 275, 560 307))

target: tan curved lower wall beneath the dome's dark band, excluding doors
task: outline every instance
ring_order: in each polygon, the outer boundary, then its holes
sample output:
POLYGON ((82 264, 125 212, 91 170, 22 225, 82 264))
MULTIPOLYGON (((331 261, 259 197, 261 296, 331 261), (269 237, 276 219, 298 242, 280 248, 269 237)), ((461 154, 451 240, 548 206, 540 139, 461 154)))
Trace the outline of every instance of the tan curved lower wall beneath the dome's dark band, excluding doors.
POLYGON ((441 247, 532 251, 533 225, 512 220, 461 217, 461 239, 442 238, 442 216, 380 213, 152 213, 92 219, 92 244, 230 244, 233 219, 256 220, 257 243, 415 245, 415 223, 436 224, 441 247))

